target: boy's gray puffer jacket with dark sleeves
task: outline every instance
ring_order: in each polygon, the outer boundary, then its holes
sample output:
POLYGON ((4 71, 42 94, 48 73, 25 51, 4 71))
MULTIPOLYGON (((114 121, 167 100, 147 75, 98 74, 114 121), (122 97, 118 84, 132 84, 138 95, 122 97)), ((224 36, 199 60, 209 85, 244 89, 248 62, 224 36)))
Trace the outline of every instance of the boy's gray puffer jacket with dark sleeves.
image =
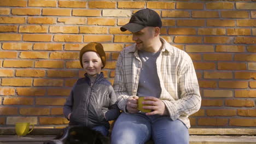
POLYGON ((111 83, 101 73, 94 83, 85 74, 74 84, 63 106, 63 113, 66 118, 71 113, 69 125, 104 125, 109 128, 108 121, 116 119, 120 110, 111 83))

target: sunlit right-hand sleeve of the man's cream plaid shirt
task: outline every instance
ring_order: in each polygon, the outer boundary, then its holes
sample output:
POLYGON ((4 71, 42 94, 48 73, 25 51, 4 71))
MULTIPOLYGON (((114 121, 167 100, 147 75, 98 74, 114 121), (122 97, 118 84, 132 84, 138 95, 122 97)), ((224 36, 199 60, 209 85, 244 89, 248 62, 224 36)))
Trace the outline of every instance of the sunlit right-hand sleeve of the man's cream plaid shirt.
POLYGON ((189 56, 187 59, 188 61, 181 62, 177 71, 180 99, 173 101, 162 100, 167 107, 170 118, 173 121, 180 116, 188 117, 192 115, 198 111, 201 106, 199 84, 194 65, 189 56))

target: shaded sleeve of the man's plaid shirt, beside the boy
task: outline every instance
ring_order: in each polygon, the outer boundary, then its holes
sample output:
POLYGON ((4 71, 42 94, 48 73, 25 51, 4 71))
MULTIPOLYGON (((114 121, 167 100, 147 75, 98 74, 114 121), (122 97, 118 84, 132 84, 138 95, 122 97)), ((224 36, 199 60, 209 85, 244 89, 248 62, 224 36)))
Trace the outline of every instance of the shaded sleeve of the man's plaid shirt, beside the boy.
POLYGON ((122 51, 118 57, 117 65, 115 67, 115 79, 114 79, 114 91, 117 95, 118 107, 120 110, 126 111, 126 103, 127 100, 132 97, 127 93, 126 89, 126 80, 125 80, 125 73, 123 67, 123 60, 124 60, 124 51, 122 51))

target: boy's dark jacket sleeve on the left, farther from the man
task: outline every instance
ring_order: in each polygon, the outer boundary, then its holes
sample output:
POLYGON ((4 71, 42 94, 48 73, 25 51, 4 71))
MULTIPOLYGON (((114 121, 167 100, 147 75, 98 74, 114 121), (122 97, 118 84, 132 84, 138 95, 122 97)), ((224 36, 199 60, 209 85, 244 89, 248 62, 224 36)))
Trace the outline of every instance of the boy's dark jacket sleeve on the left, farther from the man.
MULTIPOLYGON (((74 85, 75 86, 75 85, 74 85)), ((72 107, 73 107, 73 89, 74 86, 70 92, 70 95, 66 99, 66 103, 63 106, 63 113, 64 116, 68 119, 68 114, 72 113, 72 107)), ((69 120, 69 119, 68 119, 69 120)))

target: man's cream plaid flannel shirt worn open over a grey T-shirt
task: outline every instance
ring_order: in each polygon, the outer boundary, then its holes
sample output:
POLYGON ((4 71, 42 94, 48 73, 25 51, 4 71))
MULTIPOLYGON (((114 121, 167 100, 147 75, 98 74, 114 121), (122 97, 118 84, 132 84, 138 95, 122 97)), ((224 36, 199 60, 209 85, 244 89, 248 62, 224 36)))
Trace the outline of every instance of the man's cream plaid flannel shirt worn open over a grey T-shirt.
MULTIPOLYGON (((181 120, 190 128, 188 116, 200 109, 201 96, 193 62, 189 55, 160 38, 163 46, 156 59, 156 69, 160 80, 160 98, 174 121, 181 120)), ((118 106, 126 112, 128 98, 136 95, 141 60, 136 44, 125 47, 120 52, 115 69, 114 91, 118 106)))

